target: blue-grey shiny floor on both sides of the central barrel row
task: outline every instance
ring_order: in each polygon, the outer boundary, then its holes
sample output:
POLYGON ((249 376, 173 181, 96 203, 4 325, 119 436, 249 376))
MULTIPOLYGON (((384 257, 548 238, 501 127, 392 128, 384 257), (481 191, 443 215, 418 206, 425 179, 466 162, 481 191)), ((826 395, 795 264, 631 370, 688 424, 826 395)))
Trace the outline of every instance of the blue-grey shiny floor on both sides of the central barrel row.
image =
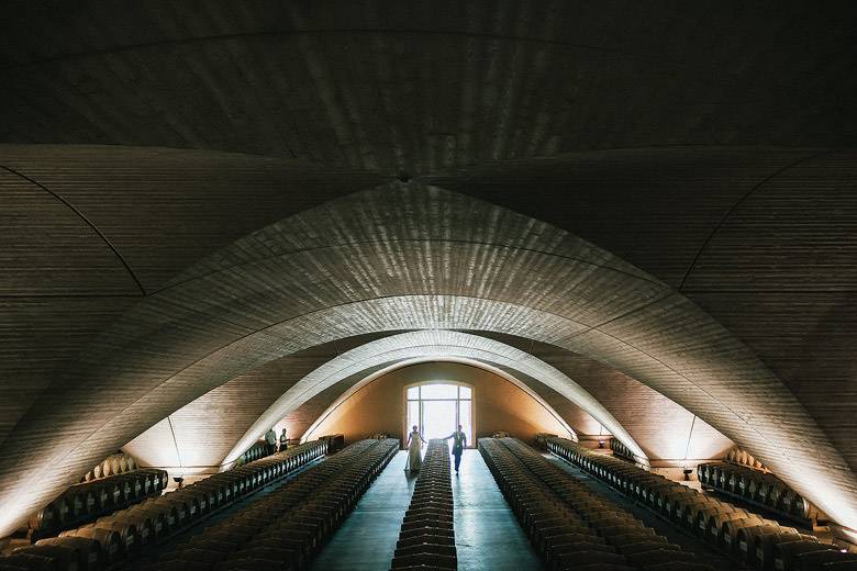
MULTIPOLYGON (((404 474, 404 463, 402 451, 360 499, 311 571, 390 569, 414 484, 414 478, 404 474)), ((453 474, 453 495, 459 571, 543 569, 476 450, 465 451, 460 475, 453 474)))

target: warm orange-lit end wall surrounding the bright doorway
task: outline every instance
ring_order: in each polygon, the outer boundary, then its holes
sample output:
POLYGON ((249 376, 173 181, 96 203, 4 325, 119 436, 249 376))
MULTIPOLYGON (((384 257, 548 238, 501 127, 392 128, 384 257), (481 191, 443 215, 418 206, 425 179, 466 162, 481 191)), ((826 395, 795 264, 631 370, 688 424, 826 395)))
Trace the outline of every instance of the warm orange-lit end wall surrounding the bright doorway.
POLYGON ((430 362, 403 367, 368 383, 320 422, 308 439, 325 434, 344 434, 346 441, 387 432, 405 435, 404 388, 422 381, 459 381, 474 387, 476 437, 505 430, 524 440, 537 433, 568 435, 563 424, 535 399, 502 377, 485 369, 453 362, 430 362))

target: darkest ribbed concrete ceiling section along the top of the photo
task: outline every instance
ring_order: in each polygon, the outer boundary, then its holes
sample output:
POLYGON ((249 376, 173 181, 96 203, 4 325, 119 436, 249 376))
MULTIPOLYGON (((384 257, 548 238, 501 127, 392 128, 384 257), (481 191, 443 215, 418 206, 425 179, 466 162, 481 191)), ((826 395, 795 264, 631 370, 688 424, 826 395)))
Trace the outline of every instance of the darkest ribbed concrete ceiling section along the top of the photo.
POLYGON ((561 150, 854 141, 848 3, 15 4, 0 29, 4 142, 392 173, 561 150))

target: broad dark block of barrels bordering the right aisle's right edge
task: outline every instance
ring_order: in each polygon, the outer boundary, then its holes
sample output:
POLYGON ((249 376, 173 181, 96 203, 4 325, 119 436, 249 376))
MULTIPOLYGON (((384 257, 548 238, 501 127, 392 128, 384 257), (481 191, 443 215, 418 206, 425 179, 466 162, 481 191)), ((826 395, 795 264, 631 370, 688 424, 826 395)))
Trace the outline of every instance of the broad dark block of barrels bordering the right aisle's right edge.
POLYGON ((480 438, 479 451, 547 569, 713 569, 520 440, 480 438))

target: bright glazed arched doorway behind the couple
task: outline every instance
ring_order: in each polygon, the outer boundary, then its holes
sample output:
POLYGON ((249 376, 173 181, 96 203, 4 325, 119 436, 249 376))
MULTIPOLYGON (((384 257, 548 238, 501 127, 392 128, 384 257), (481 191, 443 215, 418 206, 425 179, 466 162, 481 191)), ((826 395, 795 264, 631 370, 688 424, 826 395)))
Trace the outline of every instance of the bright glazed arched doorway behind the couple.
POLYGON ((423 438, 444 438, 460 424, 467 443, 474 445, 474 388, 453 381, 429 381, 404 388, 404 433, 416 425, 423 438))

